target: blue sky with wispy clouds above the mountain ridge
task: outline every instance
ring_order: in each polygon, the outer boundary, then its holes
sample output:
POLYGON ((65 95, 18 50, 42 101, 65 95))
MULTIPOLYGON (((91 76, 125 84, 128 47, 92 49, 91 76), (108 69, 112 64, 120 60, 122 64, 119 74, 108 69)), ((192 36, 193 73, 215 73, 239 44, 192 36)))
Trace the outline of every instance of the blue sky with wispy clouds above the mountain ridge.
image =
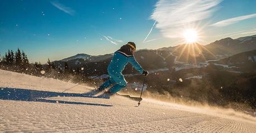
POLYGON ((255 0, 0 1, 0 54, 20 48, 30 62, 113 53, 128 41, 137 49, 185 42, 197 32, 207 45, 256 35, 255 0))

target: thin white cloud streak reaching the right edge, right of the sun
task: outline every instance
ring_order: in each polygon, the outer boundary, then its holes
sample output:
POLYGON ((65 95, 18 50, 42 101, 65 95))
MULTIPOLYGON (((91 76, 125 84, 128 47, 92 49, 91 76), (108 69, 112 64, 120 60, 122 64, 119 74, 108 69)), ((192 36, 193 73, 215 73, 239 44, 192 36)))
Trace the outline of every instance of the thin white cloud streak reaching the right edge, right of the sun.
POLYGON ((225 19, 223 21, 219 21, 214 24, 211 24, 210 26, 224 27, 224 26, 228 26, 230 24, 237 23, 239 21, 243 21, 244 19, 249 19, 249 18, 254 18, 254 17, 256 17, 256 13, 245 15, 245 16, 239 16, 239 17, 235 17, 235 18, 225 19))

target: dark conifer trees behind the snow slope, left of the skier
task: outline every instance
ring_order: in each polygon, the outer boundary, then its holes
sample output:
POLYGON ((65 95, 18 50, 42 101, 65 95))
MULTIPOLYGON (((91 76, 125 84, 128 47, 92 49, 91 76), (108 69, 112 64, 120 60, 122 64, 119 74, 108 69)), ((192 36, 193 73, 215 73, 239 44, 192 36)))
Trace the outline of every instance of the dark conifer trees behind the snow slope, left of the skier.
POLYGON ((67 62, 56 63, 48 58, 46 64, 30 63, 27 54, 20 48, 17 48, 16 51, 8 50, 2 57, 0 55, 0 69, 75 83, 89 79, 89 76, 85 74, 89 70, 81 69, 81 67, 70 67, 67 62))

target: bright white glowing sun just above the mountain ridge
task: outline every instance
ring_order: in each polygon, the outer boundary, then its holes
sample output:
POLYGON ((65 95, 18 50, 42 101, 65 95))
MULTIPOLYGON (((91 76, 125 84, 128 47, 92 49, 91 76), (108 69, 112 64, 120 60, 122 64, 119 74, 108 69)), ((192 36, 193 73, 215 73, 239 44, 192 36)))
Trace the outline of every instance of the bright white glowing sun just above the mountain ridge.
POLYGON ((186 29, 186 31, 183 32, 183 37, 186 43, 194 43, 197 41, 197 31, 195 29, 186 29))

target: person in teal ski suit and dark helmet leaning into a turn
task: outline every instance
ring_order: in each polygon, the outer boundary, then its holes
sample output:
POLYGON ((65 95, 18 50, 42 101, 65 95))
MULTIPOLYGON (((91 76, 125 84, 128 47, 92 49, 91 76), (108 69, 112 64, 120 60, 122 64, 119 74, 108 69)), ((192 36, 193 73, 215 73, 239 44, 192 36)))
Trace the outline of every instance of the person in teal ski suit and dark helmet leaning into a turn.
POLYGON ((127 82, 124 79, 122 71, 127 63, 131 63, 132 66, 144 76, 148 75, 148 71, 143 70, 141 65, 136 61, 133 53, 136 51, 136 45, 134 42, 128 42, 123 45, 119 50, 114 52, 114 56, 108 65, 109 80, 105 81, 99 88, 98 92, 104 91, 110 85, 114 85, 107 92, 110 95, 122 90, 127 86, 127 82))

